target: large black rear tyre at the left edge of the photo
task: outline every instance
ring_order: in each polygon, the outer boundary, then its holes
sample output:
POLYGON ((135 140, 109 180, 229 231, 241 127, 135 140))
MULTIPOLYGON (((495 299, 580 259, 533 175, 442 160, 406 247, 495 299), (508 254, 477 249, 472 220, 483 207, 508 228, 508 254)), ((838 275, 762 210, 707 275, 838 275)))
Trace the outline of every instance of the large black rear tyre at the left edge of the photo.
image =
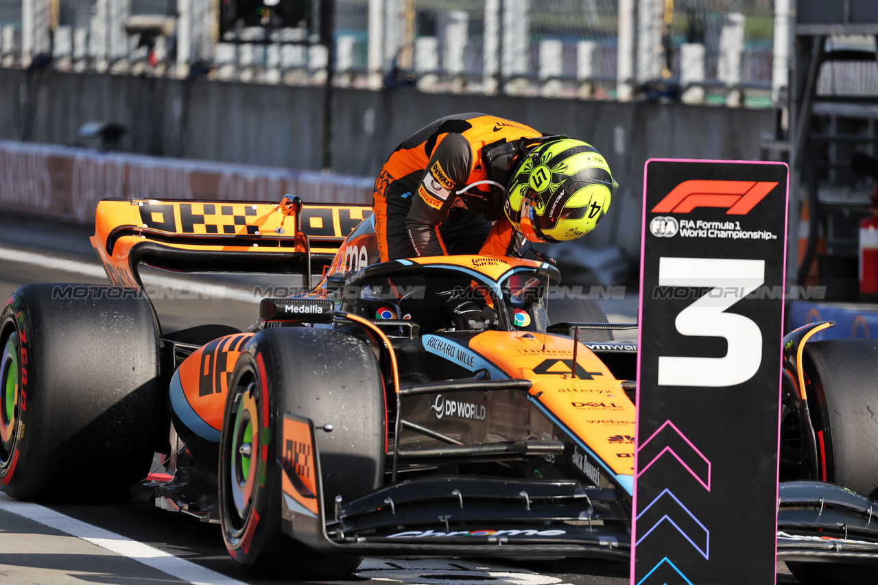
POLYGON ((158 335, 148 300, 28 285, 0 312, 0 485, 19 500, 117 499, 155 451, 158 335))

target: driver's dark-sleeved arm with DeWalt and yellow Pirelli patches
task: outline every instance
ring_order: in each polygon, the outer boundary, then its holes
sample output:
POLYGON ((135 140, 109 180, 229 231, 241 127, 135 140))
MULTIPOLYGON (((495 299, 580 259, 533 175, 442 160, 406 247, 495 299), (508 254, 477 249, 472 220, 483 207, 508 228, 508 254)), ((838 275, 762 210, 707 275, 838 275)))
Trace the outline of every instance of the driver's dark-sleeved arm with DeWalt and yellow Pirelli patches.
POLYGON ((406 217, 406 231, 418 256, 447 252, 439 226, 448 217, 455 191, 470 176, 472 148, 461 134, 448 134, 435 148, 406 217))

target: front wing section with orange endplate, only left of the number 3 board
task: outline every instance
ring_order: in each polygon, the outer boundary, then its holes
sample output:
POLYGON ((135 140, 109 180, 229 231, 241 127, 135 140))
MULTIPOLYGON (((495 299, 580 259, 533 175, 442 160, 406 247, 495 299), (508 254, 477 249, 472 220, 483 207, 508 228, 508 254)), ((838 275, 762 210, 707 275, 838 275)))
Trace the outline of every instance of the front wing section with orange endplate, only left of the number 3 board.
POLYGON ((630 517, 613 488, 577 480, 443 476, 401 481, 327 518, 313 423, 284 415, 284 533, 326 553, 627 560, 630 517), (310 445, 303 445, 310 440, 310 445), (303 453, 310 453, 305 458, 303 453))

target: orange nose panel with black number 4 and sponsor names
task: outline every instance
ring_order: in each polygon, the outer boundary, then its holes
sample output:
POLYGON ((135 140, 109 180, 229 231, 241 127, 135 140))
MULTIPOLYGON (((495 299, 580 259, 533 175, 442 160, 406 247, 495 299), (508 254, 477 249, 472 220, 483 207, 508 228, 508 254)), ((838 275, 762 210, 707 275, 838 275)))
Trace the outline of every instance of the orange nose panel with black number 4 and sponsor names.
POLYGON ((470 347, 511 377, 531 380, 530 395, 582 438, 615 473, 634 473, 634 404, 623 392, 620 380, 585 345, 579 343, 576 352, 575 377, 572 339, 486 331, 473 337, 470 347))

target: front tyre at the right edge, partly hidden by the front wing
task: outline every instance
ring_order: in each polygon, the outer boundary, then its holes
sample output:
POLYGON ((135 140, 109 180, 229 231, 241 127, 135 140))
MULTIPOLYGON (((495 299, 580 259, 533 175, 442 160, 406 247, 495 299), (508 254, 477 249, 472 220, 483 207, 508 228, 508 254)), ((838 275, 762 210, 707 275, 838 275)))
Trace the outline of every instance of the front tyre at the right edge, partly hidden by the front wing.
MULTIPOLYGON (((878 404, 878 341, 810 342, 803 361, 818 437, 817 477, 878 496, 878 411, 869 407, 878 404)), ((878 583, 874 565, 788 562, 787 566, 803 583, 878 583)))

